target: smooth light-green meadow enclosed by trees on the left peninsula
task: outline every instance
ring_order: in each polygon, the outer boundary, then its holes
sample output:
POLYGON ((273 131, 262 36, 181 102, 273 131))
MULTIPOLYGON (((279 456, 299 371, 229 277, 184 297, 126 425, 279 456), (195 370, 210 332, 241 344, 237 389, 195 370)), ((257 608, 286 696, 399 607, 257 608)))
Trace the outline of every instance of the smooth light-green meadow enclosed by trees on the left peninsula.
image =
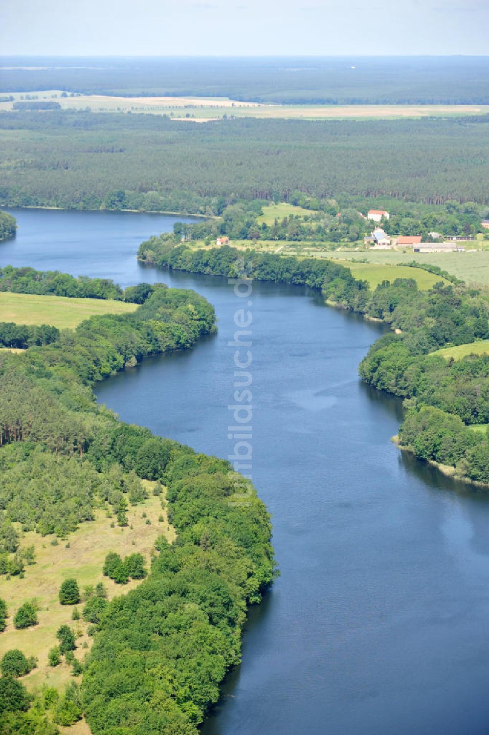
POLYGON ((96 314, 128 314, 137 308, 137 304, 104 301, 101 298, 0 292, 0 321, 16 324, 50 324, 66 329, 96 314))

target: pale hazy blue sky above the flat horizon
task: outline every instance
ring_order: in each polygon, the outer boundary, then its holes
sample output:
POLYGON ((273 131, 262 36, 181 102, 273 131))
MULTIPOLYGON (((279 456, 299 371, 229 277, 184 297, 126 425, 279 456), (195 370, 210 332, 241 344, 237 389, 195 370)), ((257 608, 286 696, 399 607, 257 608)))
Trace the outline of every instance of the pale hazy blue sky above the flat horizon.
POLYGON ((0 54, 489 54, 489 0, 1 0, 0 54))

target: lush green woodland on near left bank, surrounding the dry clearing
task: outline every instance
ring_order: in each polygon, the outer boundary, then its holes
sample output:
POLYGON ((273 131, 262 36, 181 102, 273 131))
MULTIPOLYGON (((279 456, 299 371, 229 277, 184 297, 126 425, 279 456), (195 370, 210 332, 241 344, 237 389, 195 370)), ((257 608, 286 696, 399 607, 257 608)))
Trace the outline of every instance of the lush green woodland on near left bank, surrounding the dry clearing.
MULTIPOLYGON (((81 690, 70 685, 58 700, 46 689, 30 706, 18 679, 0 678, 2 733, 54 734, 52 717, 69 725, 84 712, 95 735, 128 722, 135 734, 194 735, 239 661, 246 605, 274 578, 265 506, 228 462, 121 423, 93 395, 95 381, 190 347, 214 322, 204 298, 160 284, 130 315, 93 317, 49 345, 0 354, 0 573, 29 573, 29 529, 67 538, 100 506, 126 525, 126 509, 146 497, 141 478, 167 484, 178 532, 174 545, 158 540, 138 589, 89 606, 95 639, 85 664, 73 657, 70 628, 58 631, 63 650, 50 652, 51 665, 64 654, 83 670, 81 690)), ((4 605, 0 613, 9 614, 4 605)))

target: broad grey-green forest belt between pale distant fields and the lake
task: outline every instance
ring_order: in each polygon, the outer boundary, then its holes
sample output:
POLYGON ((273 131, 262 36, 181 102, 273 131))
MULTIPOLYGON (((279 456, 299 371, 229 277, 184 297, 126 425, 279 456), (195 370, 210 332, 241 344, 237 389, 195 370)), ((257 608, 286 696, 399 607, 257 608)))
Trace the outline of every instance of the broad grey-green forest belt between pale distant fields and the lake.
POLYGON ((489 116, 397 121, 0 114, 0 205, 215 215, 224 204, 334 197, 489 204, 489 116), (117 182, 115 186, 114 182, 117 182))

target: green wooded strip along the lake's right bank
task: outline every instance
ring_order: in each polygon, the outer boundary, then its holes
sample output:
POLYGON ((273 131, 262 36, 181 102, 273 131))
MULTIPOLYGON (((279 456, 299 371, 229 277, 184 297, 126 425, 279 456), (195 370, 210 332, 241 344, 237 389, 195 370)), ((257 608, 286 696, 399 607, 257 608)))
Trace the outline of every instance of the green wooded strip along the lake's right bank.
MULTIPOLYGON (((429 291, 414 279, 396 279, 370 290, 348 268, 325 259, 297 259, 237 251, 224 246, 192 250, 171 235, 142 243, 138 257, 163 268, 235 276, 243 259, 246 273, 259 281, 321 288, 328 301, 368 318, 385 321, 399 333, 376 340, 360 365, 360 375, 378 390, 404 398, 403 445, 420 459, 454 467, 459 476, 489 483, 489 355, 445 359, 437 351, 489 339, 489 300, 485 291, 462 282, 440 281, 429 291), (416 441, 414 442, 414 438, 416 441)), ((430 268, 435 273, 437 268, 430 268)))

